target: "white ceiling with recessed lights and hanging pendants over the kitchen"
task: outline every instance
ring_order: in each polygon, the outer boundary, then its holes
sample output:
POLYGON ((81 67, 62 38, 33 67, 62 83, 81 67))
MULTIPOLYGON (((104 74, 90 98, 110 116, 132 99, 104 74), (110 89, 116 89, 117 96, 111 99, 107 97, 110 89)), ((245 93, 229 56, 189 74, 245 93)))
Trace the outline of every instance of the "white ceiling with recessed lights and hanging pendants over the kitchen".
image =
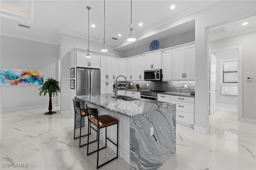
MULTIPOLYGON (((16 8, 27 10, 27 1, 1 0, 3 3, 12 2, 16 8), (22 2, 24 2, 22 4, 22 2)), ((1 12, 1 34, 35 40, 39 42, 59 44, 60 33, 70 34, 81 38, 88 38, 88 10, 90 6, 90 40, 102 42, 104 36, 104 1, 103 0, 35 0, 29 4, 30 19, 32 22, 22 22, 6 18, 1 12), (28 25, 31 28, 22 28, 18 24, 28 25), (95 24, 95 28, 91 25, 95 24)), ((115 49, 125 51, 133 47, 148 43, 152 40, 173 36, 174 33, 188 32, 193 29, 194 24, 187 23, 174 27, 162 33, 141 38, 133 43, 126 43, 130 24, 130 0, 106 0, 106 43, 113 45, 115 49), (122 34, 118 37, 118 34, 122 34), (111 38, 119 38, 112 40, 111 38), (124 44, 124 45, 123 45, 124 44)), ((132 1, 132 23, 135 36, 138 37, 149 31, 159 28, 170 22, 172 16, 185 16, 206 8, 218 0, 133 0, 132 1), (175 5, 174 10, 170 9, 175 5), (143 26, 138 26, 139 23, 143 26)), ((26 18, 25 18, 26 19, 26 18)))

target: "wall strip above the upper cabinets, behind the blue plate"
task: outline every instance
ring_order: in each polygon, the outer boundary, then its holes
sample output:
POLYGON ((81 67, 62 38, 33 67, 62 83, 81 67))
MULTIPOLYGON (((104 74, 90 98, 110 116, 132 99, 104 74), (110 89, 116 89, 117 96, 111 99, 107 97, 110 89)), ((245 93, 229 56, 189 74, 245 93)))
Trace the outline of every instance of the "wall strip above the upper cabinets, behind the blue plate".
MULTIPOLYGON (((168 35, 166 35, 168 37, 168 35)), ((172 36, 163 40, 158 40, 159 42, 159 48, 158 49, 164 49, 168 47, 173 47, 176 45, 184 44, 184 43, 189 43, 189 42, 194 42, 195 41, 195 31, 187 32, 185 34, 179 34, 176 36, 172 36)), ((149 45, 151 42, 148 42, 146 45, 142 45, 140 47, 130 49, 127 51, 124 51, 123 57, 130 57, 134 55, 139 55, 145 52, 150 51, 149 45)))

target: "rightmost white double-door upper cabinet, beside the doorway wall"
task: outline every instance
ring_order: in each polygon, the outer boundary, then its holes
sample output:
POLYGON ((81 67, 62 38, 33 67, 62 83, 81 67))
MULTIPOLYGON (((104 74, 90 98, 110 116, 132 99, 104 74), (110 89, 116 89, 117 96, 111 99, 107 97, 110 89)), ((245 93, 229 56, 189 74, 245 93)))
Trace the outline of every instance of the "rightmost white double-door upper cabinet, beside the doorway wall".
POLYGON ((172 50, 172 79, 195 79, 195 45, 187 45, 172 50))

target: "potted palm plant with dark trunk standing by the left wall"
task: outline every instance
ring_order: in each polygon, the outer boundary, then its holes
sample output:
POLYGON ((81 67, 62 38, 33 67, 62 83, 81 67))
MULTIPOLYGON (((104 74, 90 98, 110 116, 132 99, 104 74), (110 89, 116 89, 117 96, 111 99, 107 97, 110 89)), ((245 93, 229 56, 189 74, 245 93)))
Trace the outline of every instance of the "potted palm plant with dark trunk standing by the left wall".
POLYGON ((60 82, 53 79, 53 78, 47 78, 42 87, 40 87, 38 90, 39 95, 41 96, 42 94, 45 96, 46 93, 49 94, 50 100, 49 100, 49 107, 48 107, 48 112, 44 113, 44 115, 52 115, 53 113, 56 113, 55 111, 52 111, 52 95, 58 96, 58 93, 60 93, 60 82))

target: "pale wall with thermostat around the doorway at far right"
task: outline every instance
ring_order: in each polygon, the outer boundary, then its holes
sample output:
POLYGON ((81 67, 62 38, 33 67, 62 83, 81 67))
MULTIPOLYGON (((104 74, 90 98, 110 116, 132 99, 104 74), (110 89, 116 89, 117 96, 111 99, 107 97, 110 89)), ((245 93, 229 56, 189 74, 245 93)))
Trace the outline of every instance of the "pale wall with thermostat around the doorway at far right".
POLYGON ((214 40, 210 50, 242 45, 242 117, 256 120, 256 32, 214 40), (252 81, 246 81, 252 77, 252 81))

